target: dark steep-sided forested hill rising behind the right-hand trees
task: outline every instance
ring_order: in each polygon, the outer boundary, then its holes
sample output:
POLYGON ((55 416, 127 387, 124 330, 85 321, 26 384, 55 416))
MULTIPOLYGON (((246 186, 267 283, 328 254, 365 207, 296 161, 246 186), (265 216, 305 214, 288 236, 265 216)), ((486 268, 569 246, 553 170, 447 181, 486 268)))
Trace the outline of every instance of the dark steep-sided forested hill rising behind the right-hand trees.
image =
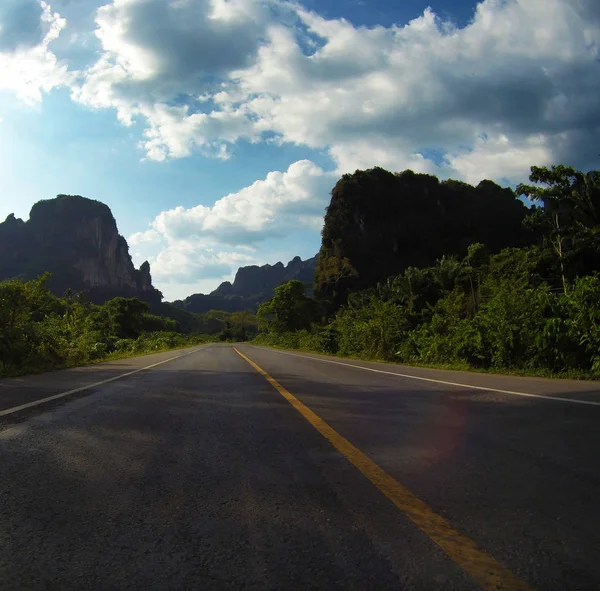
POLYGON ((410 170, 382 168, 344 175, 331 192, 318 255, 315 292, 334 305, 349 291, 427 267, 443 255, 464 256, 473 243, 490 252, 531 240, 527 208, 511 189, 477 187, 410 170))

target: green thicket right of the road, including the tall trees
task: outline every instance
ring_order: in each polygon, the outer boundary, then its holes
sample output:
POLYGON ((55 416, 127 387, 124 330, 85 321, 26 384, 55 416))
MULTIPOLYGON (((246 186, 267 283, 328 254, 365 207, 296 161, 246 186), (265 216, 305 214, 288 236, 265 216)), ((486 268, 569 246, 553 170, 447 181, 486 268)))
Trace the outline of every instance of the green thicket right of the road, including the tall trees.
POLYGON ((531 373, 600 375, 600 175, 532 168, 524 223, 537 244, 409 266, 351 291, 337 311, 282 286, 259 309, 259 342, 362 358, 531 373), (315 322, 321 305, 321 322, 315 322), (291 322, 264 322, 267 311, 291 322))

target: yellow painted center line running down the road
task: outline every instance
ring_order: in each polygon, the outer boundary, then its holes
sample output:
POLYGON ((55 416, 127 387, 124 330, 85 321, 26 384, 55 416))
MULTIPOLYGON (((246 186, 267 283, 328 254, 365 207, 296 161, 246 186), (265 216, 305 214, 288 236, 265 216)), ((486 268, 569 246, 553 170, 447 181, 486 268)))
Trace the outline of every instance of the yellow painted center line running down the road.
POLYGON ((373 460, 342 437, 321 417, 288 392, 264 369, 234 347, 235 352, 260 373, 323 437, 368 478, 421 531, 426 533, 446 554, 486 591, 533 591, 492 555, 473 540, 456 531, 452 525, 380 468, 373 460))

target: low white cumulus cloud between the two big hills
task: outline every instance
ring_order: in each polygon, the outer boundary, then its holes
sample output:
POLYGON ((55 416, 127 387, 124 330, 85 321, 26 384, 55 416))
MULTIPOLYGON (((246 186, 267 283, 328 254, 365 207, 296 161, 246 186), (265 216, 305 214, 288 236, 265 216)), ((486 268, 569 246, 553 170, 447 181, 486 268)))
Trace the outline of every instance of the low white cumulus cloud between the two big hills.
POLYGON ((256 263, 254 249, 270 238, 320 230, 335 177, 309 160, 230 193, 211 206, 161 212, 128 241, 137 260, 148 258, 153 277, 165 283, 231 278, 256 263))

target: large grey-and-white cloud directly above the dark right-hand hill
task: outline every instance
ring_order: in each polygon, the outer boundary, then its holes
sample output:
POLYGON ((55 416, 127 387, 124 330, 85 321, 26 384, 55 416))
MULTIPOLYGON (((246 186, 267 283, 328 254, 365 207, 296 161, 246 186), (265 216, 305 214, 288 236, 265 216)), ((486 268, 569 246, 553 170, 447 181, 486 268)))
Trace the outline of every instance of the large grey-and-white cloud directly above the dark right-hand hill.
POLYGON ((546 162, 564 134, 590 124, 598 132, 597 13, 568 0, 486 0, 462 29, 430 9, 403 27, 364 29, 299 10, 322 45, 306 55, 292 32, 275 28, 237 76, 261 128, 329 147, 340 171, 362 164, 360 152, 389 166, 390 144, 401 152, 395 169, 411 161, 431 168, 424 150, 452 155, 467 146, 483 151, 480 175, 522 178, 523 149, 511 155, 513 145, 541 144, 534 155, 546 162), (499 171, 484 156, 505 140, 499 171))

